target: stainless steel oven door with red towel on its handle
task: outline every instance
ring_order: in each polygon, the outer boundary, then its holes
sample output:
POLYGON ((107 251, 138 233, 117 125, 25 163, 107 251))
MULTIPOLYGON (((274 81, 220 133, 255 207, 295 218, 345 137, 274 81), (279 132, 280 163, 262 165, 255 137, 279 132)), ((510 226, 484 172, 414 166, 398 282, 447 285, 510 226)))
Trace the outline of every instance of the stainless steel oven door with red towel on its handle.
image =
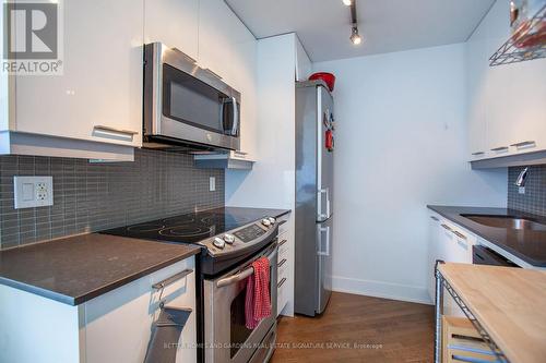
MULTIPOLYGON (((276 318, 277 245, 275 242, 252 261, 215 279, 204 280, 204 334, 206 363, 249 362, 260 343, 274 330, 276 318), (245 326, 247 277, 252 261, 270 261, 272 313, 252 330, 245 326)), ((274 332, 274 331, 273 331, 274 332)), ((265 347, 274 349, 273 344, 265 347)), ((271 353, 266 354, 270 355, 271 353)))

